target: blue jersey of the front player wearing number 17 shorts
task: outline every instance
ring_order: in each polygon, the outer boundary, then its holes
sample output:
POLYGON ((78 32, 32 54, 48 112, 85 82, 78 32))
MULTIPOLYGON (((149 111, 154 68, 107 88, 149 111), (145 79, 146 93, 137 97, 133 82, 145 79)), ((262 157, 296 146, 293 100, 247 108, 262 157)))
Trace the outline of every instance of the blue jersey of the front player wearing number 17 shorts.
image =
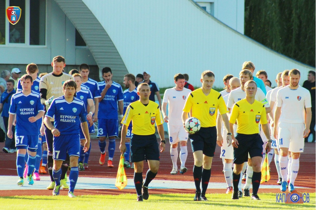
POLYGON ((54 127, 60 135, 79 134, 80 119, 82 122, 87 121, 84 103, 76 97, 71 103, 64 96, 54 99, 46 116, 52 118, 54 115, 54 127))

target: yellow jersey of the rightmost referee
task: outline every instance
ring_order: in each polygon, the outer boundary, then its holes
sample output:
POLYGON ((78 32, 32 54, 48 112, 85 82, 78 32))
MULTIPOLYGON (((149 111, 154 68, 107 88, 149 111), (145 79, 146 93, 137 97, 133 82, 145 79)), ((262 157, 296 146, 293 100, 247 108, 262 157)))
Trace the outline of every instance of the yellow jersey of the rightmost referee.
POLYGON ((267 124, 267 115, 264 104, 255 100, 253 104, 247 102, 246 98, 235 103, 230 114, 229 122, 234 124, 237 119, 237 133, 255 134, 259 133, 259 122, 267 124))

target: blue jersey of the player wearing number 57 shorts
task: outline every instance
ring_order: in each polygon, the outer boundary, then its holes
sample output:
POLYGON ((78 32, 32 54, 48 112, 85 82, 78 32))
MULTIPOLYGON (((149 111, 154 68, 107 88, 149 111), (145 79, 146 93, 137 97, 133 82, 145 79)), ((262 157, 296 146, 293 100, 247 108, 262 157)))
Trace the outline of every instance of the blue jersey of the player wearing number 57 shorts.
POLYGON ((35 117, 39 112, 44 112, 40 102, 40 94, 32 91, 25 96, 21 91, 11 98, 9 114, 16 114, 16 135, 39 135, 39 123, 31 123, 28 118, 35 117))

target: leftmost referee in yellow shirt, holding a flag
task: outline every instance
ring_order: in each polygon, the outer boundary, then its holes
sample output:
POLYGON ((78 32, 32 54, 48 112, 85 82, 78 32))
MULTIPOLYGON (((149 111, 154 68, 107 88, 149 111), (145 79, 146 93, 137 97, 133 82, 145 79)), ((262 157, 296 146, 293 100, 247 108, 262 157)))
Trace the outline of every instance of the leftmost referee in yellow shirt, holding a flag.
POLYGON ((165 151, 165 136, 163 130, 163 117, 159 105, 149 101, 150 87, 147 83, 137 86, 139 100, 131 103, 125 112, 122 120, 121 153, 126 150, 125 137, 128 125, 131 120, 133 123, 131 135, 131 161, 134 162, 134 184, 137 193, 137 201, 147 200, 148 184, 155 178, 159 168, 159 150, 165 151), (155 135, 155 122, 160 136, 160 149, 155 135), (148 161, 149 170, 147 171, 145 182, 143 182, 144 160, 148 161), (143 193, 142 193, 143 188, 143 193))

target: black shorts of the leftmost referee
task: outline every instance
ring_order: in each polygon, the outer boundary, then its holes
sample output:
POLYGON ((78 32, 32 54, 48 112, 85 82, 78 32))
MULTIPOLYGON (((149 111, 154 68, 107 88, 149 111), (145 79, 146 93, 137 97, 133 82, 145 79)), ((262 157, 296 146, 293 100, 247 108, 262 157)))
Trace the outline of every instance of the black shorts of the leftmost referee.
POLYGON ((131 161, 160 160, 159 144, 155 134, 131 135, 131 161))

